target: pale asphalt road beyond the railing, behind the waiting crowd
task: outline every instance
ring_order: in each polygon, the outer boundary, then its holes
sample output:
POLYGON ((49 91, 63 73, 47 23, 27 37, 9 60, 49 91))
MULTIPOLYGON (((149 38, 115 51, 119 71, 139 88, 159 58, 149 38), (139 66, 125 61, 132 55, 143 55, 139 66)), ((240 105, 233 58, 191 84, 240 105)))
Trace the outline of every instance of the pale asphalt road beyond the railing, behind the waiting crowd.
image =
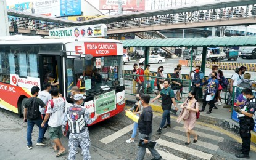
MULTIPOLYGON (((234 62, 234 61, 223 61, 223 62, 234 62)), ((236 61, 237 63, 256 63, 256 60, 250 60, 250 59, 242 59, 242 58, 238 58, 238 60, 236 61)), ((131 60, 130 62, 126 63, 124 65, 124 69, 125 70, 133 70, 133 64, 134 63, 138 63, 139 64, 139 60, 131 60)), ((173 73, 174 68, 178 65, 179 60, 178 59, 168 59, 165 61, 165 63, 162 64, 158 64, 158 63, 154 63, 154 64, 150 64, 151 65, 151 71, 157 71, 157 68, 159 66, 163 66, 164 67, 164 73, 173 73)), ((192 70, 194 70, 194 68, 192 68, 192 70)), ((206 68, 205 69, 205 75, 209 75, 210 72, 212 72, 211 69, 206 68)), ((190 68, 183 66, 181 69, 181 74, 189 74, 190 73, 190 68)), ((255 72, 248 72, 252 75, 252 80, 256 79, 256 74, 255 72)), ((234 74, 234 70, 223 70, 223 74, 226 78, 231 78, 231 76, 234 74)))

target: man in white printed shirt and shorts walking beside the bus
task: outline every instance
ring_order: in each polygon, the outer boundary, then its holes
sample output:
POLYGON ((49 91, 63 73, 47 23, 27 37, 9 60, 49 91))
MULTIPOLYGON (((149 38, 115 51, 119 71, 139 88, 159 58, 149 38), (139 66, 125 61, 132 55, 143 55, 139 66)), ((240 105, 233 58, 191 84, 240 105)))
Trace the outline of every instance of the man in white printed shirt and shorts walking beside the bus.
POLYGON ((58 150, 59 148, 59 152, 56 154, 56 157, 59 157, 67 152, 60 142, 60 137, 62 137, 61 127, 64 119, 65 99, 61 97, 59 89, 56 87, 52 87, 50 92, 52 100, 47 103, 46 116, 41 127, 44 127, 46 121, 50 118, 48 122, 49 136, 54 142, 54 150, 58 150))

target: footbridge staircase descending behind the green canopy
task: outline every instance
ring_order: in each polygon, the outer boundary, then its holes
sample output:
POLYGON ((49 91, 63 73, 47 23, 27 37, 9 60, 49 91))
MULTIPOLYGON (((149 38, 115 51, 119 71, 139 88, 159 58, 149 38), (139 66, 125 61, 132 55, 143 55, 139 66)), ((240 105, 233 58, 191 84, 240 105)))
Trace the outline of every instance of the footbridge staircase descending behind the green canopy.
MULTIPOLYGON (((141 39, 160 39, 160 38, 164 39, 164 38, 167 38, 167 36, 163 35, 159 31, 155 31, 155 34, 157 34, 157 36, 159 36, 159 37, 151 36, 151 35, 147 34, 146 32, 135 33, 135 35, 141 39)), ((175 47, 161 47, 161 49, 165 50, 165 52, 167 52, 168 54, 171 54, 171 55, 173 55, 175 52, 175 47)))

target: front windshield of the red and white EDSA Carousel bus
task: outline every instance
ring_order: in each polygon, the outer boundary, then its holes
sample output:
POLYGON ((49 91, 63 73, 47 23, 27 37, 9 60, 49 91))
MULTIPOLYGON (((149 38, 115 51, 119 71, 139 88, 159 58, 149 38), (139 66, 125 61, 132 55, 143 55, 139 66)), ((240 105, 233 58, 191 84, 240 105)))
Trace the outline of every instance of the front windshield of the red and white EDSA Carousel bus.
POLYGON ((78 86, 86 96, 122 86, 123 56, 67 59, 67 92, 70 97, 72 86, 78 86), (120 82, 121 81, 121 82, 120 82))

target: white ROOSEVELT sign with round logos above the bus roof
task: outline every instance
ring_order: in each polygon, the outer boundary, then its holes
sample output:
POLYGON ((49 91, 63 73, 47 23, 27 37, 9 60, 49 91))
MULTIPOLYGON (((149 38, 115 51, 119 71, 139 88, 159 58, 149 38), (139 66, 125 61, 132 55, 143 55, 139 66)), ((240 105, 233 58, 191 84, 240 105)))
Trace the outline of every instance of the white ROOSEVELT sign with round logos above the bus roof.
POLYGON ((104 24, 99 24, 57 28, 49 30, 49 36, 60 38, 107 37, 107 26, 104 24))

